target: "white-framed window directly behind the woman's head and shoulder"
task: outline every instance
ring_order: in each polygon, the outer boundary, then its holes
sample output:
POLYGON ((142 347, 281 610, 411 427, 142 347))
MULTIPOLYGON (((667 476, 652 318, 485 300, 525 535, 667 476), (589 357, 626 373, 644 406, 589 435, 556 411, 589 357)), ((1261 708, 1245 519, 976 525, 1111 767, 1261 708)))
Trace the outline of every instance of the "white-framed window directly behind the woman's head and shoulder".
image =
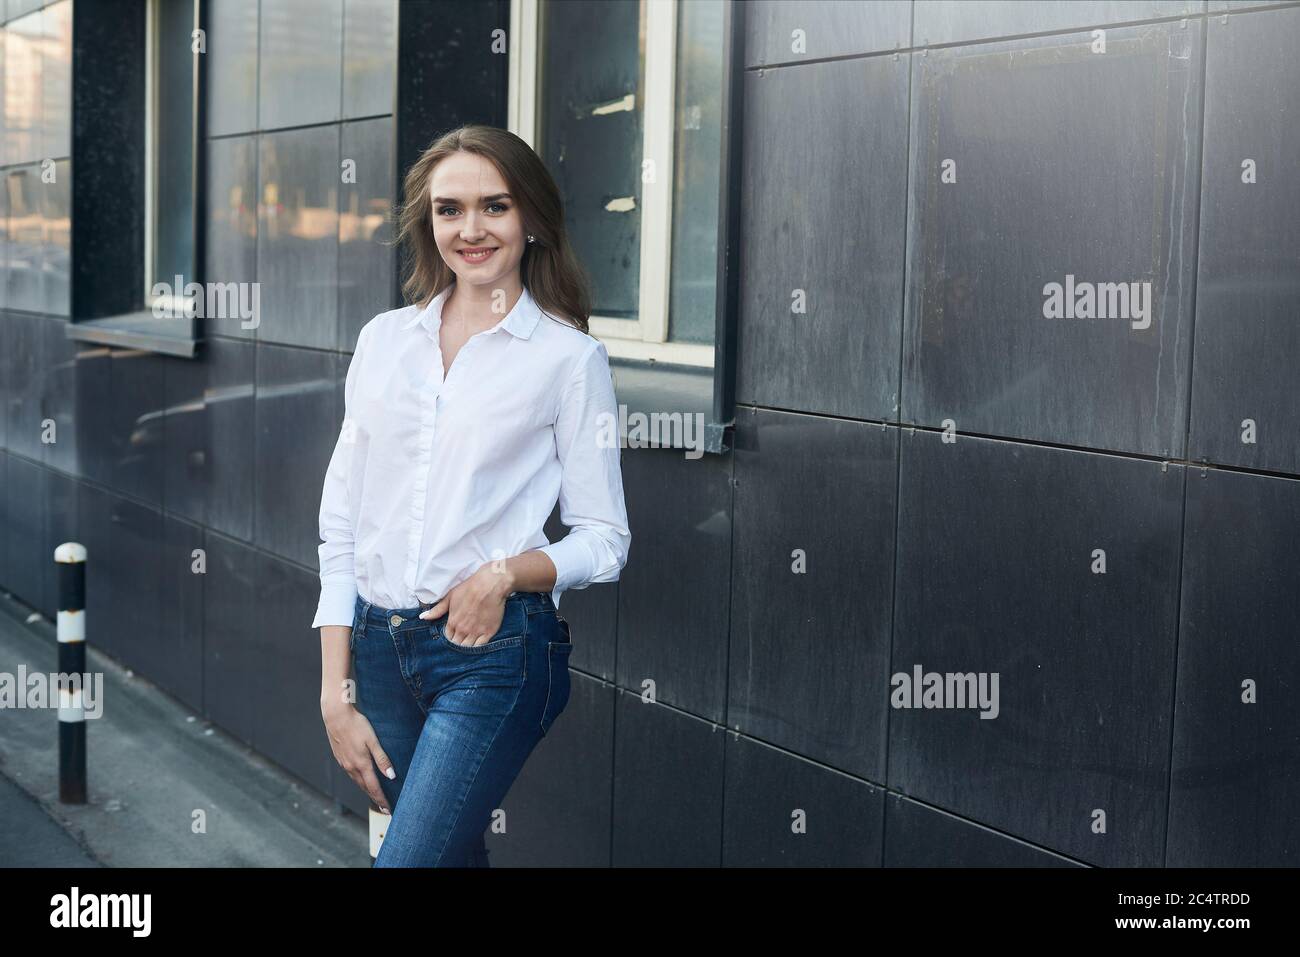
POLYGON ((712 369, 724 0, 515 0, 510 129, 555 176, 611 358, 712 369))

